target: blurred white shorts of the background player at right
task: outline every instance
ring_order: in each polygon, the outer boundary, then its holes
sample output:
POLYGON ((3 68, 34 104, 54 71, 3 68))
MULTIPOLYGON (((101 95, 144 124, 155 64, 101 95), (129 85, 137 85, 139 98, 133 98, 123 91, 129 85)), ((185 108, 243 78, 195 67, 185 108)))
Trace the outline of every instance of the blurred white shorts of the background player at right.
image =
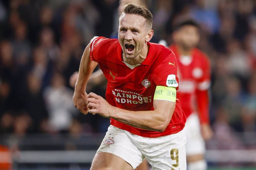
POLYGON ((187 156, 194 154, 204 154, 205 153, 205 142, 201 135, 200 122, 198 115, 192 113, 187 118, 187 143, 186 151, 187 156))

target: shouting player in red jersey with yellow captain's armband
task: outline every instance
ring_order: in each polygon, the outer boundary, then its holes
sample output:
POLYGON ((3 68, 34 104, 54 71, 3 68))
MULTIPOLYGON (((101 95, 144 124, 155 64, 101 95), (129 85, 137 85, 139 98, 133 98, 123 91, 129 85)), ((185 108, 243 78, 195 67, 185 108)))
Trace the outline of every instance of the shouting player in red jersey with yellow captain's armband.
POLYGON ((111 118, 92 161, 96 169, 135 169, 144 159, 153 169, 186 170, 186 117, 176 99, 177 63, 171 50, 149 43, 152 14, 127 4, 118 39, 94 37, 85 48, 73 102, 82 113, 111 118), (99 64, 108 79, 106 100, 85 92, 99 64))

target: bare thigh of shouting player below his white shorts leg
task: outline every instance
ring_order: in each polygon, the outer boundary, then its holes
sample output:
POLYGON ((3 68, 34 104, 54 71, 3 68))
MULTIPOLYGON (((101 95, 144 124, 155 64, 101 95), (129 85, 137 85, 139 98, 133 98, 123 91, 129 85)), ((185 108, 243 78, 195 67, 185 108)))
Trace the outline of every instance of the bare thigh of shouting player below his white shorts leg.
POLYGON ((121 157, 112 153, 100 152, 96 153, 92 161, 91 170, 132 170, 132 166, 125 162, 121 157))

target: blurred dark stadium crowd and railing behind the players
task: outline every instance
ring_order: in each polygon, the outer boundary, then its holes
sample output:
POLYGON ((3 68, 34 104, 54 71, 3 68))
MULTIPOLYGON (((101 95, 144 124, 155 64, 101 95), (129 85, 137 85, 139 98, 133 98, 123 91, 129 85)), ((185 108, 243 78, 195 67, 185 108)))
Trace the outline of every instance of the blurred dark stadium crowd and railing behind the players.
MULTIPOLYGON (((256 169, 256 0, 145 0, 154 37, 200 23, 211 61, 210 170, 256 169)), ((69 78, 93 36, 118 30, 119 0, 0 1, 0 169, 88 169, 109 119, 73 107, 69 78)), ((105 95, 105 79, 87 92, 105 95)))

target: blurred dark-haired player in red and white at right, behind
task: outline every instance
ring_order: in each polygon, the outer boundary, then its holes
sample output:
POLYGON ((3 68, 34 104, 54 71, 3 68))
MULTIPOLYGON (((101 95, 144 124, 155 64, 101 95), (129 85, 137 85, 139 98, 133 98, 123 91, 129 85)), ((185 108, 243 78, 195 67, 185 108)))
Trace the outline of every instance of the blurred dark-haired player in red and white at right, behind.
POLYGON ((177 57, 180 79, 177 98, 186 114, 188 170, 206 170, 205 143, 212 130, 209 125, 210 64, 207 55, 196 48, 200 39, 198 24, 190 19, 174 28, 174 45, 169 48, 177 57), (198 114, 197 114, 198 113, 198 114), (199 116, 199 119, 198 119, 199 116))

